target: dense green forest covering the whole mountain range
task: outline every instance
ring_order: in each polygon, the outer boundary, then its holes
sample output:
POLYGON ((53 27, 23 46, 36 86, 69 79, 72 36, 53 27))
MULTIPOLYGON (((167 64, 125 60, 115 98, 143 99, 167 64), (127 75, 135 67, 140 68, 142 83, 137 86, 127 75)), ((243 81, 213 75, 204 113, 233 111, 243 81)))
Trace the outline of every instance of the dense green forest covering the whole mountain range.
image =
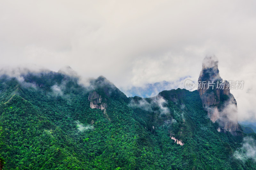
POLYGON ((127 98, 103 77, 87 88, 77 78, 55 72, 23 77, 20 82, 0 79, 4 170, 255 169, 253 159, 234 157, 245 134, 218 132, 197 91, 127 98), (90 108, 92 91, 106 103, 105 114, 90 108))

